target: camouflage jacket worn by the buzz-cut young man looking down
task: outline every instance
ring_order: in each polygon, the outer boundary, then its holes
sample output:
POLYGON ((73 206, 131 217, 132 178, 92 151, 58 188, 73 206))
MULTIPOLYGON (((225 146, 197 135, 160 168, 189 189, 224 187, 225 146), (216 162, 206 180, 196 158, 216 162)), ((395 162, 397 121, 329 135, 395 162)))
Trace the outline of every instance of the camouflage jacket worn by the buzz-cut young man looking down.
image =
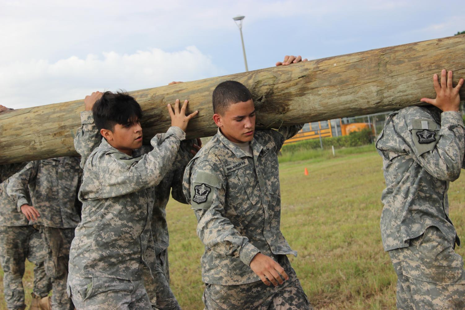
MULTIPOLYGON (((218 133, 197 153, 184 173, 184 195, 197 219, 197 234, 205 245, 202 280, 236 285, 259 281, 249 267, 259 252, 293 254, 279 225, 278 152, 284 141, 302 128, 255 132, 253 157, 218 133)), ((273 257, 274 258, 274 257, 273 257)))

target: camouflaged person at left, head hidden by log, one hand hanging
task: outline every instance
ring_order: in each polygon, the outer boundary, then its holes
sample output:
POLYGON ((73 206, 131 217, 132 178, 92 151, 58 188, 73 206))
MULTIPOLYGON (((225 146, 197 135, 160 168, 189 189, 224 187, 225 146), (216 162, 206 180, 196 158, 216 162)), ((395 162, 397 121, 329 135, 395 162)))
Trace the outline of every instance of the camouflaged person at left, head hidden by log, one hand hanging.
POLYGON ((7 186, 18 211, 39 227, 44 240, 45 271, 52 280, 53 294, 41 304, 53 310, 74 308, 66 294, 66 279, 74 228, 80 222, 76 196, 81 176, 77 157, 42 159, 29 162, 7 186), (27 199, 29 191, 32 205, 27 199))

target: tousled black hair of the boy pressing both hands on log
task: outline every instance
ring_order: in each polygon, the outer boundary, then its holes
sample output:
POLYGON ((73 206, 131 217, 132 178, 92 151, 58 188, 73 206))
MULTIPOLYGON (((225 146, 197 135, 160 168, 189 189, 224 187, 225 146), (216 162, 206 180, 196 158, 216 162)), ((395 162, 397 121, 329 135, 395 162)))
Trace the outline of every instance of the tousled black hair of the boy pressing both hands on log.
POLYGON ((127 92, 104 92, 92 108, 93 120, 99 129, 114 130, 116 124, 135 123, 142 118, 142 109, 127 92))

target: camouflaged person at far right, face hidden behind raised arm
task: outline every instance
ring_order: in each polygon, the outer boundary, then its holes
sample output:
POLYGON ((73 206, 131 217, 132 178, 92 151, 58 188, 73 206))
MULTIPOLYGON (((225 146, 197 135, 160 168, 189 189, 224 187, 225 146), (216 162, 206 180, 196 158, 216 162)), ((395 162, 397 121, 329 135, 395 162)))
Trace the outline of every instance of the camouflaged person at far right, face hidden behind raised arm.
POLYGON ((376 148, 386 189, 381 237, 398 275, 397 308, 465 309, 465 270, 454 248, 460 240, 449 218, 447 189, 460 175, 464 125, 452 71, 434 75, 434 106, 391 113, 376 148), (441 113, 442 110, 442 113, 441 113))

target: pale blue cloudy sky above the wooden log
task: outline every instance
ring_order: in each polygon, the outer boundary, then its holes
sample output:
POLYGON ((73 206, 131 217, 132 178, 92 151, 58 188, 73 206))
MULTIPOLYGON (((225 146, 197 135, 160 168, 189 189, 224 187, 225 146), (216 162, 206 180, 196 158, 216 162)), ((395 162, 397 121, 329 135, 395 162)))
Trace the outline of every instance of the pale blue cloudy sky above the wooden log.
POLYGON ((243 72, 239 14, 249 70, 286 54, 319 59, 465 30, 461 1, 2 0, 0 104, 243 72))

